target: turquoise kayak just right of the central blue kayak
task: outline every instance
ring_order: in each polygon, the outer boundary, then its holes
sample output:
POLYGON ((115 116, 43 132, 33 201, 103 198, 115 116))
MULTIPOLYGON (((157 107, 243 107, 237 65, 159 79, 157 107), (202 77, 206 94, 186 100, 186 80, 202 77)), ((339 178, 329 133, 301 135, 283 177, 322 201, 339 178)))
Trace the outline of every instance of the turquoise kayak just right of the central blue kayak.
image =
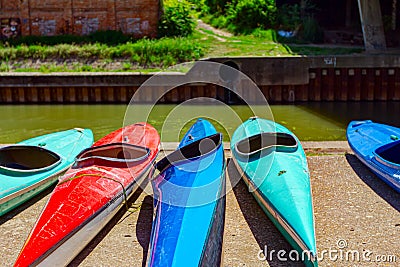
POLYGON ((250 118, 233 134, 231 151, 255 199, 297 251, 292 258, 318 266, 310 177, 297 137, 278 123, 250 118))

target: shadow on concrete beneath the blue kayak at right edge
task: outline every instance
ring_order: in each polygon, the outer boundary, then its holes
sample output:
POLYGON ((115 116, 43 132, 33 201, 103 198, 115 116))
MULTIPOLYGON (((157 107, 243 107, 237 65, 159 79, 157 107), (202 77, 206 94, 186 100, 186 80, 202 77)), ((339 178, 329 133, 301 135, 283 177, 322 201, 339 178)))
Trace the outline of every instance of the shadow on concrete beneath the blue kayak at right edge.
POLYGON ((394 189, 373 174, 355 155, 346 154, 346 160, 366 185, 374 190, 374 192, 383 198, 389 205, 397 211, 400 211, 399 194, 394 189))

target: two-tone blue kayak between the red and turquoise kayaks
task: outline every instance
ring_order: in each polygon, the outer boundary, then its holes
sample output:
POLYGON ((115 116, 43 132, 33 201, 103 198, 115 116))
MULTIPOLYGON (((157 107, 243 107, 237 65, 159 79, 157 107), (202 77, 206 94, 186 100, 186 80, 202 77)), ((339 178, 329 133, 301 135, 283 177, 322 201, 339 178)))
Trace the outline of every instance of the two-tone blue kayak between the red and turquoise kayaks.
POLYGON ((199 119, 159 161, 148 266, 219 266, 225 221, 222 134, 199 119))

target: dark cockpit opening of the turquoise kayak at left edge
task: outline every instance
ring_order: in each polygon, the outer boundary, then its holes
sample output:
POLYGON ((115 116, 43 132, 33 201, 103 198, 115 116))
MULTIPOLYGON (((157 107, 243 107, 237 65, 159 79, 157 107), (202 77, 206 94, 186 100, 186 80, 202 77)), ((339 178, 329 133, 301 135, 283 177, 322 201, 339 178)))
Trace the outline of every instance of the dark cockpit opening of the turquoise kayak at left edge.
POLYGON ((15 145, 0 149, 0 169, 7 173, 34 173, 54 168, 61 157, 43 147, 15 145))

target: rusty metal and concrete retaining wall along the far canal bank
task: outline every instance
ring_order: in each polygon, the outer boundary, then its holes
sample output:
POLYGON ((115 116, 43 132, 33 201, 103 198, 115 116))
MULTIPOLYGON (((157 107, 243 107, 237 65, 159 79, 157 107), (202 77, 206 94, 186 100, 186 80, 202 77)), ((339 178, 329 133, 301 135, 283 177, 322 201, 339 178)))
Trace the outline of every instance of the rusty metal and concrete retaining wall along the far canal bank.
MULTIPOLYGON (((400 60, 397 56, 214 58, 250 77, 269 102, 400 100, 400 60)), ((165 73, 172 78, 185 74, 165 73), (175 77, 174 77, 175 76, 175 77)), ((151 74, 141 73, 3 73, 0 103, 128 103, 151 74)), ((141 102, 154 102, 168 88, 161 84, 140 92, 141 102)), ((251 93, 243 94, 257 103, 251 93)), ((196 83, 179 86, 159 99, 180 103, 197 97, 235 103, 221 86, 196 83)))

